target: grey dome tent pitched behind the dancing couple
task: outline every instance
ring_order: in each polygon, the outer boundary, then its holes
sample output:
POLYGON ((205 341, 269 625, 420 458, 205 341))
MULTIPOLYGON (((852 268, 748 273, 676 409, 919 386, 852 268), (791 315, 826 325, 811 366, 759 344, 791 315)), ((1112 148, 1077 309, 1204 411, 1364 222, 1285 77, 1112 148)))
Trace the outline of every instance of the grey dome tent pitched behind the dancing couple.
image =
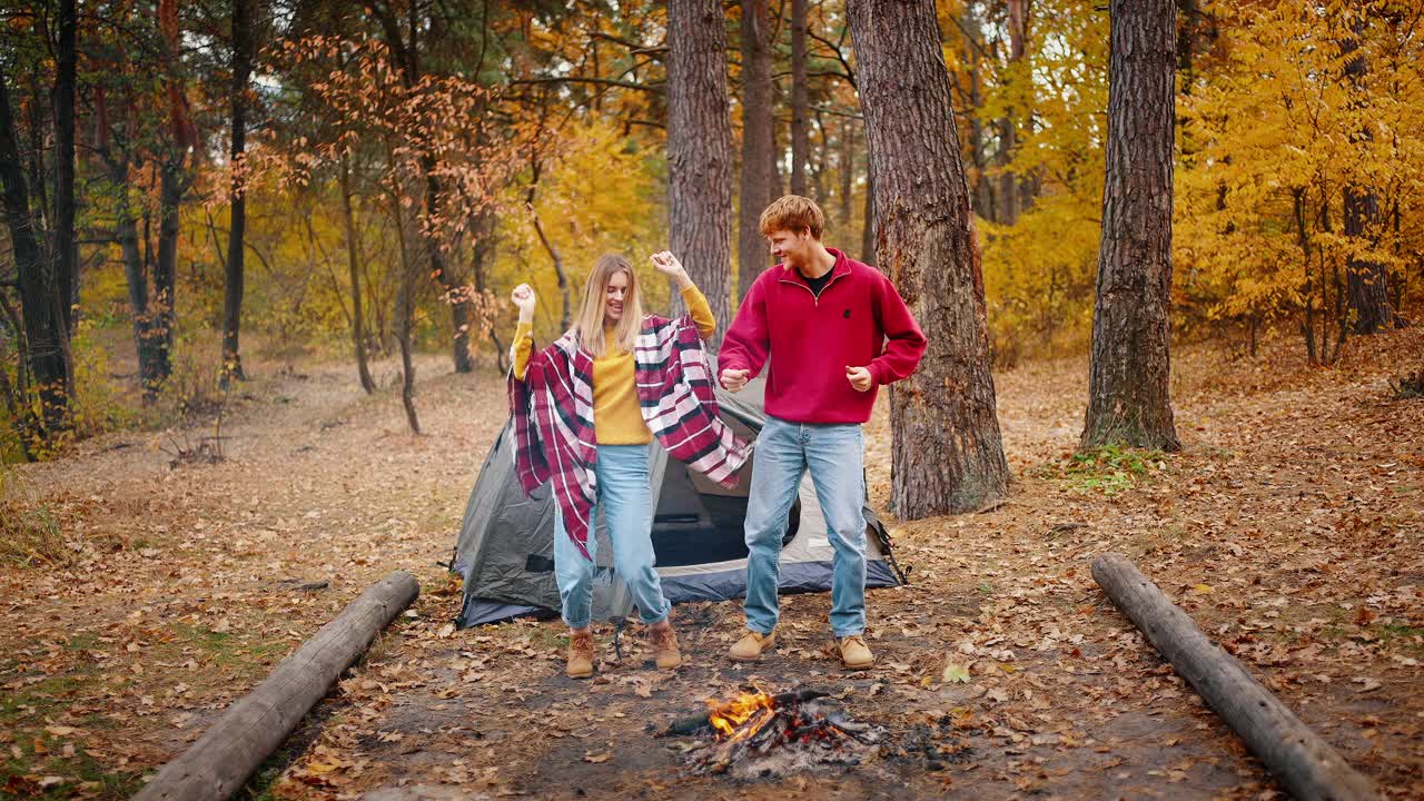
MULTIPOLYGON (((740 393, 716 391, 722 419, 743 439, 755 439, 766 420, 762 381, 740 393)), ((662 591, 674 604, 728 600, 746 594, 746 543, 743 519, 755 466, 742 469, 740 480, 726 489, 669 459, 656 443, 649 446, 649 479, 655 515, 652 546, 662 591)), ((507 620, 521 614, 554 614, 560 607, 554 582, 554 499, 550 485, 524 495, 514 473, 514 436, 506 422, 484 459, 470 502, 466 505, 451 569, 464 579, 461 627, 507 620)), ((890 537, 879 516, 866 512, 866 586, 904 583, 894 563, 890 537)), ((612 570, 612 547, 602 513, 594 574, 594 620, 627 617, 632 597, 612 570)), ((833 549, 826 536, 810 475, 802 477, 799 497, 787 516, 780 560, 780 591, 829 591, 833 549)))

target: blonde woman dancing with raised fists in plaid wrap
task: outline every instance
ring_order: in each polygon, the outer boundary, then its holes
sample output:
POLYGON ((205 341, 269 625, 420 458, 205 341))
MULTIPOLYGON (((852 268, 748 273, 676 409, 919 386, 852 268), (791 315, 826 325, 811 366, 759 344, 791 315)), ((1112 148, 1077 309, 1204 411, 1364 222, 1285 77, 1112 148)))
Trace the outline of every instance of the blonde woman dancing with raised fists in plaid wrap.
POLYGON ((682 664, 668 620, 671 606, 654 569, 648 443, 726 486, 748 448, 718 419, 712 369, 702 341, 716 331, 706 298, 671 252, 652 257, 682 289, 688 315, 644 315, 638 277, 621 255, 604 255, 584 284, 574 326, 534 352, 534 289, 514 288, 510 406, 515 466, 525 492, 553 482, 554 577, 568 624, 571 678, 594 673, 592 522, 602 506, 614 570, 651 630, 658 667, 682 664), (635 378, 637 376, 637 378, 635 378))

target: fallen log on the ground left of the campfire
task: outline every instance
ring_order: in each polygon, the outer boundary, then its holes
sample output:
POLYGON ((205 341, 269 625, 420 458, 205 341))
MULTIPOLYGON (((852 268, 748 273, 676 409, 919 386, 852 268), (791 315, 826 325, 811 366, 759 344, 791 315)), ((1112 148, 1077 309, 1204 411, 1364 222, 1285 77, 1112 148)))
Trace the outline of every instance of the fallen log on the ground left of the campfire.
POLYGON ((135 801, 229 798, 419 594, 416 579, 400 570, 367 587, 164 765, 135 801))

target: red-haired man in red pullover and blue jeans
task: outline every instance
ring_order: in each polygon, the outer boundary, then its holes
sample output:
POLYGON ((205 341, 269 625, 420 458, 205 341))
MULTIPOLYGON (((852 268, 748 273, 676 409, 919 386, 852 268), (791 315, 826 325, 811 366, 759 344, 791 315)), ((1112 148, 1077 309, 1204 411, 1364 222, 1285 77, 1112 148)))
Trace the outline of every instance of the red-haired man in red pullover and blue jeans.
POLYGON ((762 212, 779 267, 748 291, 719 356, 721 382, 740 391, 763 368, 766 425, 756 439, 746 506, 746 634, 731 657, 749 661, 776 641, 786 516, 810 469, 834 549, 830 627, 842 664, 874 664, 866 646, 864 443, 876 388, 914 372, 926 341, 890 279, 820 242, 824 215, 786 195, 762 212))

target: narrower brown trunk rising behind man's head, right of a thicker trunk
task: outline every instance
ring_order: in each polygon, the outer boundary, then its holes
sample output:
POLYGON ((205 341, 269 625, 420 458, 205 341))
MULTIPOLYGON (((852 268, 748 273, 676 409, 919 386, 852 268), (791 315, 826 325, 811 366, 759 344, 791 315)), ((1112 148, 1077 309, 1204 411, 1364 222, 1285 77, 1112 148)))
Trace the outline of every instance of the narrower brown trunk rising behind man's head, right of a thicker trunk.
POLYGON ((770 267, 760 218, 780 190, 772 105, 770 16, 766 0, 742 0, 742 187, 738 214, 738 299, 770 267))

